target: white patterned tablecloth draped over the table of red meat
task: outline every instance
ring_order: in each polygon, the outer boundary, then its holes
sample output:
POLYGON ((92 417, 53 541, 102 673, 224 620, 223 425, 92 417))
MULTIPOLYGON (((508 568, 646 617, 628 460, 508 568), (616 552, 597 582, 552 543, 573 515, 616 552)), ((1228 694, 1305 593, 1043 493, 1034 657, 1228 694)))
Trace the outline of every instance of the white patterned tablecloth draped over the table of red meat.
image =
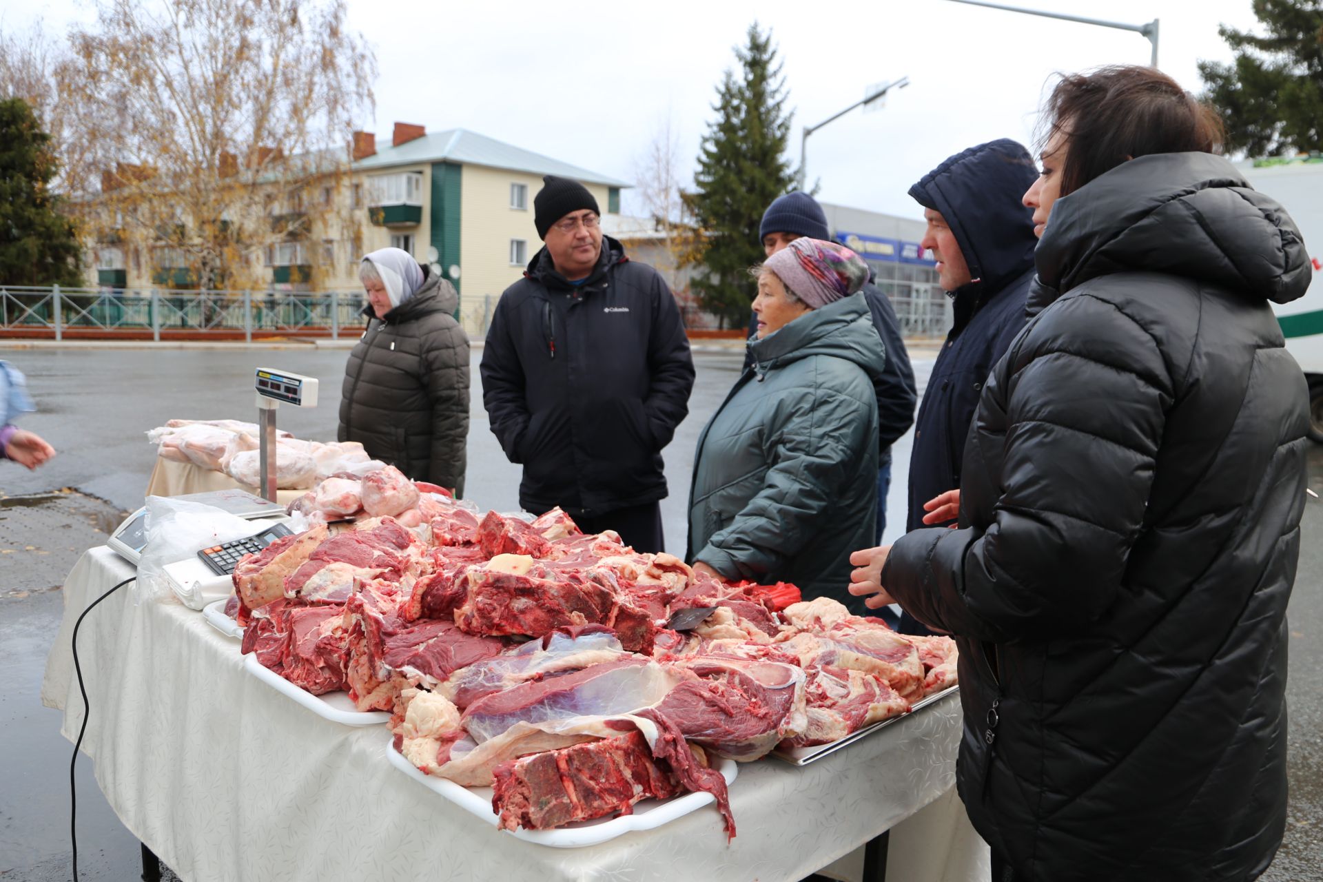
MULTIPOLYGON (((41 694, 65 710, 70 741, 82 722, 74 621, 128 575, 95 547, 65 584, 41 694)), ((332 723, 253 678, 238 643, 173 596, 135 603, 122 588, 83 620, 78 647, 97 782, 124 825, 191 882, 777 882, 886 829, 892 882, 987 878, 987 846, 951 795, 955 696, 803 768, 770 758, 742 766, 729 844, 709 805, 656 830, 552 849, 497 832, 392 768, 384 726, 332 723)))

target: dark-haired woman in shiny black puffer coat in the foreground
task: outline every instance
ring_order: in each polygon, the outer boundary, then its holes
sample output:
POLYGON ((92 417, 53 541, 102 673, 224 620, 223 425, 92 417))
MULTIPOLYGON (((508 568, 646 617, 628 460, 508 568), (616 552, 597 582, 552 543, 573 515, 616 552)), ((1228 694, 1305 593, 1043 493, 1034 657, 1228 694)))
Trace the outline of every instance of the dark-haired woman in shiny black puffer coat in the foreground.
POLYGON ((1066 77, 1046 115, 1031 320, 958 528, 857 554, 852 590, 959 643, 957 780, 994 878, 1253 879, 1286 821, 1308 426, 1269 301, 1308 258, 1162 73, 1066 77))

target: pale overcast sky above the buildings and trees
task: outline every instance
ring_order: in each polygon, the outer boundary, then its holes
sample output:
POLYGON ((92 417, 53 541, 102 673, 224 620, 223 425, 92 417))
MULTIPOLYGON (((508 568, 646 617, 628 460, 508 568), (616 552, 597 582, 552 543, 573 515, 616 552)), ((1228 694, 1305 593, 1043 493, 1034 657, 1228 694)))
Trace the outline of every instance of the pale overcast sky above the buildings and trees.
MULTIPOLYGON (((152 1, 152 0, 144 0, 152 1)), ((1056 71, 1147 63, 1148 41, 1125 30, 970 7, 950 0, 815 4, 452 3, 348 0, 373 45, 376 119, 429 131, 468 128, 634 180, 669 116, 692 175, 716 85, 736 67, 749 24, 771 28, 799 130, 908 75, 886 107, 843 116, 808 139, 808 179, 826 202, 918 214, 905 194, 946 156, 994 138, 1029 144, 1056 71)), ((1160 19, 1159 66, 1200 90, 1199 60, 1229 60, 1218 24, 1253 28, 1250 0, 1023 0, 1008 5, 1143 24, 1160 19)), ((78 0, 0 0, 3 25, 90 20, 78 0)), ((626 210, 631 206, 626 196, 626 210)))

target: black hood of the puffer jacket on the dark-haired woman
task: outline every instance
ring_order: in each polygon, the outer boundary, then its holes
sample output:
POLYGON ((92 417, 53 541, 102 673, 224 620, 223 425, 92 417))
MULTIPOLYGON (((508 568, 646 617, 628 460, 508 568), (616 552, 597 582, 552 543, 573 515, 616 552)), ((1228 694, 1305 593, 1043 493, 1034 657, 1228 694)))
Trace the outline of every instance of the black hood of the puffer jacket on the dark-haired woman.
POLYGON ((1031 315, 1113 272, 1164 272, 1274 303, 1303 296, 1314 275, 1286 210, 1212 153, 1140 156, 1057 200, 1036 263, 1031 315))

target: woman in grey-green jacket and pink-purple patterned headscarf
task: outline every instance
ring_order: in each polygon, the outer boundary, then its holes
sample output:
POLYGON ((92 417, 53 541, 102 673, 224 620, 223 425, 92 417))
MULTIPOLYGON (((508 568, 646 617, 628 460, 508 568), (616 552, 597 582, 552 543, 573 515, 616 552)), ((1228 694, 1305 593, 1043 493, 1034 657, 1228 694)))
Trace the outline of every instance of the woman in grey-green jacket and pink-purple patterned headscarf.
POLYGON ((720 579, 851 596, 849 553, 877 517, 882 342, 849 249, 800 238, 754 270, 751 366, 699 436, 688 561, 720 579))

